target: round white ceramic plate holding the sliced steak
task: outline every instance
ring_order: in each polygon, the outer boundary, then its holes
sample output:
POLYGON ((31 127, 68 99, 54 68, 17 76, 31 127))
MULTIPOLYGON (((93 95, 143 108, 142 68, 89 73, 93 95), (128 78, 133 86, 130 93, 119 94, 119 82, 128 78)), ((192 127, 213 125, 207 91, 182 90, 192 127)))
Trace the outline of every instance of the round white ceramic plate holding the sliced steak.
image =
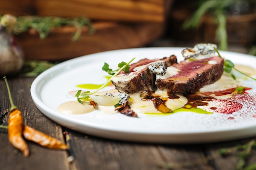
MULTIPOLYGON (((175 113, 167 116, 148 116, 139 118, 122 114, 107 115, 94 111, 81 115, 65 115, 56 108, 63 102, 76 100, 67 93, 78 84, 103 84, 106 72, 101 68, 104 62, 115 68, 121 61, 134 62, 143 58, 161 58, 175 54, 178 61, 183 60, 184 48, 138 48, 95 53, 68 60, 49 68, 40 74, 31 85, 31 97, 38 109, 53 121, 88 135, 125 141, 153 143, 203 143, 241 139, 256 135, 256 103, 247 102, 245 109, 232 115, 213 113, 211 115, 192 112, 175 113), (229 119, 233 117, 234 119, 229 119)), ((235 64, 245 64, 256 69, 256 57, 221 51, 221 55, 235 64)), ((245 86, 251 87, 249 93, 255 96, 256 82, 247 80, 245 86)), ((82 89, 84 90, 84 89, 82 89)), ((106 90, 106 89, 105 89, 106 90)))

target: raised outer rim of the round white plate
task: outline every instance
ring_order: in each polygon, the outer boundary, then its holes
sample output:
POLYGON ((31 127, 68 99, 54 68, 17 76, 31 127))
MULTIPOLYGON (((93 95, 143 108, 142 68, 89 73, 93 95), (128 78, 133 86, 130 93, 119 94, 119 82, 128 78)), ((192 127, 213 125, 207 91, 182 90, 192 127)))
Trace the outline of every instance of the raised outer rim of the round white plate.
MULTIPOLYGON (((61 126, 65 126, 65 124, 63 124, 62 122, 59 122, 59 121, 56 121, 56 116, 52 115, 52 114, 49 114, 49 112, 54 112, 56 115, 61 115, 62 119, 65 119, 64 121, 67 121, 68 119, 70 119, 70 115, 64 115, 64 114, 61 114, 61 113, 58 113, 57 111, 55 110, 52 110, 52 108, 49 108, 48 106, 46 106, 46 104, 43 103, 42 100, 40 100, 40 94, 39 93, 39 90, 38 88, 42 88, 43 84, 45 83, 45 77, 54 77, 54 75, 52 75, 52 73, 56 70, 58 70, 59 68, 61 67, 65 67, 66 65, 70 64, 70 62, 76 62, 76 61, 79 61, 81 60, 83 57, 93 57, 94 55, 100 55, 100 54, 106 54, 106 53, 112 53, 112 52, 125 52, 125 51, 143 51, 143 50, 149 50, 149 49, 168 49, 168 50, 171 50, 171 49, 184 49, 186 47, 143 47, 143 48, 132 48, 132 49, 119 49, 119 50, 112 50, 112 51, 105 51, 105 52, 99 52, 99 53, 94 53, 94 54, 89 54, 89 55, 83 55, 81 57, 76 57, 76 58, 73 58, 73 59, 70 59, 70 60, 67 60, 67 61, 64 61, 60 64, 57 64, 56 66, 53 66, 49 69, 47 69, 46 71, 44 71, 43 73, 41 73, 40 75, 38 75, 34 81, 32 82, 31 84, 31 89, 30 89, 30 93, 31 93, 31 97, 32 97, 32 100, 34 102, 34 104, 36 104, 36 107, 47 117, 49 117, 49 119, 52 119, 53 121, 57 122, 58 124, 60 124, 61 126), (43 82, 42 79, 44 79, 43 82), (40 85, 40 87, 38 87, 38 84, 40 85), (46 106, 46 107, 45 107, 46 106), (44 108, 45 107, 45 108, 44 108)), ((243 53, 236 53, 236 52, 231 52, 231 51, 220 51, 221 54, 225 54, 225 53, 229 53, 229 54, 235 54, 235 55, 245 55, 247 57, 254 57, 252 55, 247 55, 247 54, 243 54, 243 53)), ((59 119, 59 117, 58 117, 59 119)), ((73 118, 72 118, 73 119, 73 118)), ((77 120, 77 119, 74 119, 74 120, 77 120)), ((77 123, 77 122, 76 122, 77 123)), ((78 122, 80 125, 81 122, 79 121, 78 122)), ((66 126, 65 126, 66 127, 66 126)), ((85 133, 83 130, 77 128, 77 127, 68 127, 72 130, 76 130, 76 131, 79 131, 79 132, 83 132, 85 133)), ((87 126, 87 128, 89 128, 89 126, 87 126)), ((92 123, 90 124, 90 128, 98 128, 98 130, 108 130, 110 132, 116 132, 116 133, 120 133, 119 130, 113 130, 113 129, 109 129, 107 127, 104 127, 102 126, 102 128, 99 128, 98 126, 95 125, 95 123, 92 123)), ((218 133, 225 133, 225 132, 231 132, 233 133, 234 131, 237 131, 237 130, 242 130, 242 131, 245 131, 245 137, 252 137, 252 136, 255 136, 255 135, 252 135, 252 134, 247 134, 246 131, 250 130, 252 128, 252 126, 245 126, 243 128, 232 128, 231 130, 219 130, 218 133)), ((256 125, 254 126, 254 128, 256 128, 256 125)), ((93 132, 87 132, 88 134, 90 135, 94 135, 93 132)), ((150 133, 150 132, 140 132, 140 131, 121 131, 121 133, 126 133, 126 134, 134 134, 134 135, 147 135, 148 137, 144 140, 142 140, 142 142, 157 142, 157 143, 173 143, 173 142, 178 142, 178 143, 198 143, 198 139, 186 139, 186 141, 184 140, 181 140, 180 136, 182 135, 194 135, 194 136, 198 136, 200 138, 202 138, 205 133, 216 133, 215 130, 213 131, 210 131, 210 130, 207 130, 207 131, 201 131, 201 132, 179 132, 179 133, 170 133, 170 132, 162 132, 162 133, 150 133), (174 137, 175 139, 168 139, 167 141, 162 141, 162 138, 161 139, 155 139, 155 141, 152 141, 153 139, 150 138, 150 135, 152 136, 159 136, 159 135, 164 135, 164 136, 172 136, 174 137)), ((119 139, 118 137, 106 137, 105 135, 100 135, 100 134, 96 134, 95 136, 99 136, 99 137, 104 137, 104 138, 111 138, 111 139, 117 139, 117 140, 122 140, 122 139, 119 139)), ((138 138, 138 137, 137 137, 138 138)), ((141 139, 137 139, 136 137, 134 139, 124 139, 125 141, 141 141, 141 139)), ((235 135, 229 135, 229 137, 223 137, 223 139, 218 139, 216 141, 219 141, 219 140, 225 140, 225 139, 236 139, 237 137, 235 135)), ((202 142, 209 142, 209 140, 207 139, 204 139, 202 138, 202 142)), ((211 141, 214 141, 214 139, 211 139, 211 141)), ((200 143, 200 142, 199 142, 200 143)))

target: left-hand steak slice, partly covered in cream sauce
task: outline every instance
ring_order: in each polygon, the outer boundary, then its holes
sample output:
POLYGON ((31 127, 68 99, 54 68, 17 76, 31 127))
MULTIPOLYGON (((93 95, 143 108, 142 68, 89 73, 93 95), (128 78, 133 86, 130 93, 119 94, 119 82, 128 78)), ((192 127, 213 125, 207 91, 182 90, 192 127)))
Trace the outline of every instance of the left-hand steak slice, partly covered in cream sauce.
POLYGON ((136 93, 138 91, 152 91, 155 86, 155 74, 153 74, 148 66, 157 61, 164 61, 164 66, 168 67, 177 63, 175 55, 164 57, 162 59, 143 59, 130 65, 130 73, 124 73, 112 78, 111 82, 119 92, 136 93))

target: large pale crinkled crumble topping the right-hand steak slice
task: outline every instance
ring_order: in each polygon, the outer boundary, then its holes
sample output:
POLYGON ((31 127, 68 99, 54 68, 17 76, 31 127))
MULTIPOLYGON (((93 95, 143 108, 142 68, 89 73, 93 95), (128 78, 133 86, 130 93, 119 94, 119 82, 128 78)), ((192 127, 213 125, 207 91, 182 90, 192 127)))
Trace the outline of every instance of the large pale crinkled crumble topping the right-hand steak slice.
POLYGON ((184 49, 182 51, 182 55, 185 60, 189 58, 197 58, 198 60, 200 60, 203 58, 212 57, 216 55, 213 47, 217 49, 216 44, 196 44, 192 49, 184 49))

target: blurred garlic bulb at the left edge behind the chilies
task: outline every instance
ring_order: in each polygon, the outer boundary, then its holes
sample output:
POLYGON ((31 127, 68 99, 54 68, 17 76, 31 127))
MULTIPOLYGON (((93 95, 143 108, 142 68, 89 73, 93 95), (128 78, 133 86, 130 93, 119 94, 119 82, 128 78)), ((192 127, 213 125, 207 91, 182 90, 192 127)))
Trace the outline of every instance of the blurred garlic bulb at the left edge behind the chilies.
POLYGON ((15 24, 15 16, 10 14, 2 16, 0 21, 0 75, 18 73, 24 64, 24 53, 11 33, 15 24))

